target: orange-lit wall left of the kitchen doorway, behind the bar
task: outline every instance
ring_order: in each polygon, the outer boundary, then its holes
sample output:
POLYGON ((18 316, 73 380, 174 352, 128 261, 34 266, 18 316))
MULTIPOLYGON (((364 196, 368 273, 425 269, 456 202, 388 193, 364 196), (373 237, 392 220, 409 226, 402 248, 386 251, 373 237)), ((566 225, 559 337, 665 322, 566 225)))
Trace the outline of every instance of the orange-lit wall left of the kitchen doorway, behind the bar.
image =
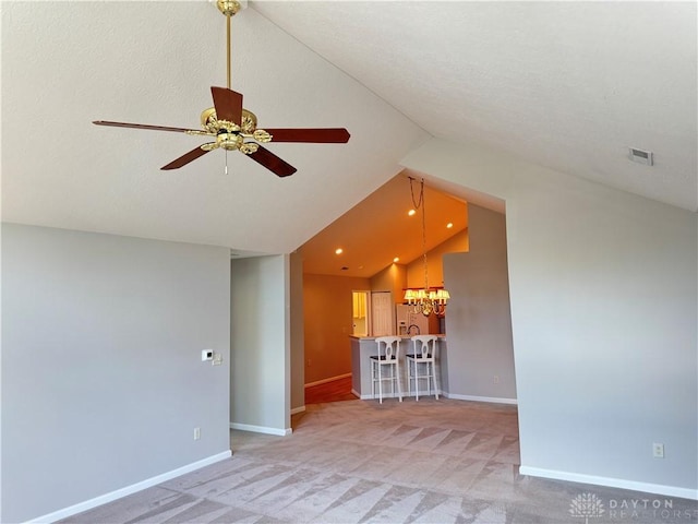
POLYGON ((351 373, 351 291, 370 286, 369 278, 303 275, 306 384, 351 373))

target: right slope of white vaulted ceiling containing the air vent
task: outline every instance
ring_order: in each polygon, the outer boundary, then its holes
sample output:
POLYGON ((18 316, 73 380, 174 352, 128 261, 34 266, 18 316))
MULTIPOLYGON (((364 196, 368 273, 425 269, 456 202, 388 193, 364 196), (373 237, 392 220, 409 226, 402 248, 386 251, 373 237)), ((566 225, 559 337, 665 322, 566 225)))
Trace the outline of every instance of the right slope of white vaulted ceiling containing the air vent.
POLYGON ((254 7, 434 136, 698 209, 696 2, 254 7))

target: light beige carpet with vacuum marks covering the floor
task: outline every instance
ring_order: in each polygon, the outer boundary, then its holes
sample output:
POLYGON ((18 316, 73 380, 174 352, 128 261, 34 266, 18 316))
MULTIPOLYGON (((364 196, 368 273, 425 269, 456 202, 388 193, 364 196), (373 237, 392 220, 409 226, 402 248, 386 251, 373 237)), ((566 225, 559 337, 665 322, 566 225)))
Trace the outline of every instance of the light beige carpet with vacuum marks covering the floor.
POLYGON ((65 523, 696 522, 695 501, 518 474, 515 406, 442 398, 308 406, 293 434, 231 432, 230 460, 65 523), (622 514, 622 501, 671 501, 622 514), (614 504, 616 508, 612 508, 614 504), (591 503, 590 503, 591 502, 591 503))

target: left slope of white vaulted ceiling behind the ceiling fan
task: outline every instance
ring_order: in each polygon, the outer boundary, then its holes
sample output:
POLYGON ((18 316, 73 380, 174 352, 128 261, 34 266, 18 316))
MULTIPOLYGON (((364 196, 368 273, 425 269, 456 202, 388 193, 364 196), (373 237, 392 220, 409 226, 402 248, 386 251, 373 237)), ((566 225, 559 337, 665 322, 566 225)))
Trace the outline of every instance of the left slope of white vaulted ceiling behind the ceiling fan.
MULTIPOLYGON (((202 140, 104 128, 198 128, 226 85, 215 3, 1 2, 2 216, 8 222, 290 252, 395 176, 429 136, 253 9, 232 21, 232 87, 260 127, 346 127, 348 144, 269 144, 159 168, 202 140)), ((205 139, 205 138, 204 138, 205 139)))

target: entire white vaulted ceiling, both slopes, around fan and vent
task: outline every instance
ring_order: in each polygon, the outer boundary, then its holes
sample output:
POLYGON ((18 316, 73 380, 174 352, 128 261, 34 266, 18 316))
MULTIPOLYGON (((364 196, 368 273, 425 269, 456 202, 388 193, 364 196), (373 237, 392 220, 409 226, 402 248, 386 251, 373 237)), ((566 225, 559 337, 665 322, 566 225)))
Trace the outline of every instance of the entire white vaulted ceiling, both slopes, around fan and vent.
POLYGON ((430 135, 698 209, 695 2, 250 2, 232 87, 260 127, 346 127, 159 167, 225 85, 225 19, 194 2, 0 2, 4 221, 288 252, 430 135), (627 147, 654 152, 630 163, 627 147))

